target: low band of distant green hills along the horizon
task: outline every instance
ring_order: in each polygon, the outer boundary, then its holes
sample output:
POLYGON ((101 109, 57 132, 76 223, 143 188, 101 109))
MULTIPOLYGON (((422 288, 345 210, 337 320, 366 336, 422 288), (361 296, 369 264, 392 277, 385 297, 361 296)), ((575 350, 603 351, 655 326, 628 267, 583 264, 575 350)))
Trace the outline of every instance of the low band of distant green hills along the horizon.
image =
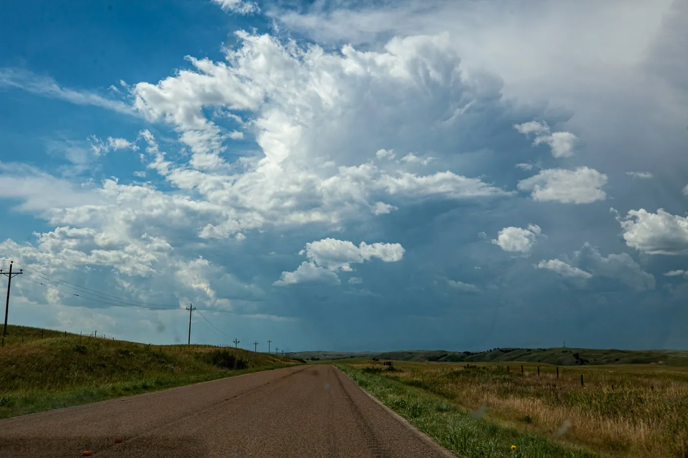
POLYGON ((343 353, 339 351, 301 351, 292 358, 303 360, 342 360, 378 358, 397 361, 438 362, 542 362, 557 366, 597 364, 665 364, 688 366, 688 351, 678 350, 616 350, 585 348, 495 348, 488 351, 406 350, 343 353))

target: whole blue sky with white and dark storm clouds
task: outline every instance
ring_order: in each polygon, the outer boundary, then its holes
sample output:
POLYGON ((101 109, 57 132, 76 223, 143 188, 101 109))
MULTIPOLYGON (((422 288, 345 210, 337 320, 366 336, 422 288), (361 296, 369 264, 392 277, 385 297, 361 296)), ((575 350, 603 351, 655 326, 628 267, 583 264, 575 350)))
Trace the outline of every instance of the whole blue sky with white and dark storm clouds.
POLYGON ((11 324, 688 349, 685 1, 5 10, 11 324))

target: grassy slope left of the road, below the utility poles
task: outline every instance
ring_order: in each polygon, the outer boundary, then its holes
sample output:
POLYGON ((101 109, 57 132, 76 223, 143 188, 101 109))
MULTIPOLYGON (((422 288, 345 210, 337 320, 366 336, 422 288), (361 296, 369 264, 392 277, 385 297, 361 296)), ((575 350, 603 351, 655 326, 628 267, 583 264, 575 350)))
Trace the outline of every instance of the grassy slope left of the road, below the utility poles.
POLYGON ((146 345, 8 326, 0 418, 299 364, 230 347, 146 345), (21 343, 21 336, 24 343, 21 343))

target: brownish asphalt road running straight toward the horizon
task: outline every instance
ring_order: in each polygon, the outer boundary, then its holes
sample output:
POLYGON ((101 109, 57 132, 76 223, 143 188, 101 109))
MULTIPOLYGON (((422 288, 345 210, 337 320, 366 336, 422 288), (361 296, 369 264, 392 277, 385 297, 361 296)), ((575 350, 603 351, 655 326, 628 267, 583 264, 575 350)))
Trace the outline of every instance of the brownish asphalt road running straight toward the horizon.
POLYGON ((452 456, 320 364, 0 420, 1 457, 84 450, 131 458, 452 456))

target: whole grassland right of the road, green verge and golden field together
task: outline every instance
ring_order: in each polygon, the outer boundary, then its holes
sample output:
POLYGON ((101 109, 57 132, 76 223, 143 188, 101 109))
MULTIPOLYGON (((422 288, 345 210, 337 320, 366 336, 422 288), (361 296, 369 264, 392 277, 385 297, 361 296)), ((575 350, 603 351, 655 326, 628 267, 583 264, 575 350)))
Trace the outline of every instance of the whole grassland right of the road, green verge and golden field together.
POLYGON ((394 364, 337 365, 460 457, 688 456, 685 367, 394 364))

